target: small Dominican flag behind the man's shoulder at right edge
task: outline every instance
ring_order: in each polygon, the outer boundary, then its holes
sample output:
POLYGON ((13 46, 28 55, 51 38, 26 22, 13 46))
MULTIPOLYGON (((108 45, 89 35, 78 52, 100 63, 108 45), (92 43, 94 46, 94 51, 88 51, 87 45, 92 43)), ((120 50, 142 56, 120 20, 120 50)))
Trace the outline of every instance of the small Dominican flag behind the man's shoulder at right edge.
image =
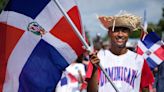
POLYGON ((151 69, 154 69, 164 61, 164 44, 155 32, 150 32, 139 40, 137 53, 145 58, 151 69))

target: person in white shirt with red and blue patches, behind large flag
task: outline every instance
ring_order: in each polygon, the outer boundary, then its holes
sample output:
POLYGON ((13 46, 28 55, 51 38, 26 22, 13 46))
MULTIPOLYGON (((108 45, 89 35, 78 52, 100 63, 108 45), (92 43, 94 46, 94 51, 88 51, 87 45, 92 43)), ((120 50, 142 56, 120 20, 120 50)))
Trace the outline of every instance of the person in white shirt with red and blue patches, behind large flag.
POLYGON ((82 56, 70 64, 63 72, 55 92, 86 92, 85 66, 82 56))

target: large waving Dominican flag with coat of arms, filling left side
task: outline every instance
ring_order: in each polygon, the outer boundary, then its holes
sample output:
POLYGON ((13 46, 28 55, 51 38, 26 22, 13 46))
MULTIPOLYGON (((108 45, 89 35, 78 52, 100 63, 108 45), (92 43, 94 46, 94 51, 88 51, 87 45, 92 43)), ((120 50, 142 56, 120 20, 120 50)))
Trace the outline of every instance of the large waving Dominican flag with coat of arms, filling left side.
MULTIPOLYGON (((82 33, 73 0, 59 0, 82 33)), ((53 0, 10 0, 0 14, 0 92, 53 92, 82 43, 53 0)))

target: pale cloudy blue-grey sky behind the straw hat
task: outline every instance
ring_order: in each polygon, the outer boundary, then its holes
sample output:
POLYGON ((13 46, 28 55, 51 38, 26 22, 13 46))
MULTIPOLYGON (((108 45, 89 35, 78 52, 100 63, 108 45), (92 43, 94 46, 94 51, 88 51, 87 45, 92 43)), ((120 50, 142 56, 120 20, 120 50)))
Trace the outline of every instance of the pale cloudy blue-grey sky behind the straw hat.
POLYGON ((164 0, 76 0, 82 25, 93 38, 97 33, 105 36, 107 31, 96 16, 116 15, 120 10, 143 17, 147 11, 147 22, 158 23, 162 18, 164 0))

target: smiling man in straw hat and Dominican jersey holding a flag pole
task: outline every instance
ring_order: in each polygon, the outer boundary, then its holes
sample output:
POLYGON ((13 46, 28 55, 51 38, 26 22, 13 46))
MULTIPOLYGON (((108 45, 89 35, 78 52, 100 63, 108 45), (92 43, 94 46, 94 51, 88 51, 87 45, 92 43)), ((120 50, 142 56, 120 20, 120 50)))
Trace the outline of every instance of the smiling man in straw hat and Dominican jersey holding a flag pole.
POLYGON ((91 56, 94 65, 88 81, 88 92, 116 92, 97 64, 105 68, 119 92, 139 92, 154 82, 153 75, 143 57, 127 49, 129 34, 140 27, 141 18, 126 12, 116 16, 101 16, 101 23, 108 29, 110 49, 91 56))

